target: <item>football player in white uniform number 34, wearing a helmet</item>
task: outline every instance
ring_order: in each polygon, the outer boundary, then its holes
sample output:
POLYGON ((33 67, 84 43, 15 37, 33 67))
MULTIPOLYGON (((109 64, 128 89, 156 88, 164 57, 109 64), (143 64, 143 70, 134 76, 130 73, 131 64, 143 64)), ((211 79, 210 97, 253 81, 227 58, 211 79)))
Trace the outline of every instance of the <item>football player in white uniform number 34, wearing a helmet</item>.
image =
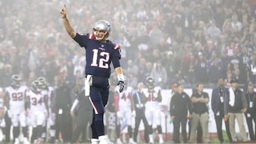
POLYGON ((33 81, 31 89, 26 93, 26 109, 29 109, 31 125, 33 127, 33 135, 35 139, 33 143, 43 142, 43 123, 48 116, 48 101, 46 93, 41 92, 41 82, 33 81))

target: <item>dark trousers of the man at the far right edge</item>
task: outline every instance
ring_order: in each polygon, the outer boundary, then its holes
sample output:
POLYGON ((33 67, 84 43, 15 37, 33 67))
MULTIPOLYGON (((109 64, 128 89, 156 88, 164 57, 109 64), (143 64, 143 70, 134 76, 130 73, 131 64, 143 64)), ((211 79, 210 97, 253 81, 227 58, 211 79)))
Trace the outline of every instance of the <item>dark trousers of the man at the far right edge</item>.
POLYGON ((256 126, 253 130, 253 124, 252 121, 256 124, 256 114, 255 113, 245 113, 245 118, 248 126, 248 131, 250 135, 250 140, 256 140, 256 132, 254 133, 253 131, 256 131, 256 126))

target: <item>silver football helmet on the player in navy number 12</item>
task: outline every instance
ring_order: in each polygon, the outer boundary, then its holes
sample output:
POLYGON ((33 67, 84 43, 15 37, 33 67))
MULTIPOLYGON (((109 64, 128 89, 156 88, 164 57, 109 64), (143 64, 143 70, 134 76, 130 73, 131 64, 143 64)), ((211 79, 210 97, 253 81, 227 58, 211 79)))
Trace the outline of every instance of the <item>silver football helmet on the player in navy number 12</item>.
POLYGON ((105 20, 97 21, 92 31, 93 35, 95 35, 96 40, 105 40, 110 35, 110 23, 105 20))

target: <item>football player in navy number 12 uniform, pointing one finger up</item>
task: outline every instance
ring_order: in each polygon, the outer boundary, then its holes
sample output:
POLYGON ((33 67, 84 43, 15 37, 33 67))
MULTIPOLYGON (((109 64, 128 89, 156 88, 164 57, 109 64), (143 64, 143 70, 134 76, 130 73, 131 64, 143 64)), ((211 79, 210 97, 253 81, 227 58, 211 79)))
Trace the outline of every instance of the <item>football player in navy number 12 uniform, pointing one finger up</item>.
POLYGON ((60 16, 63 19, 65 30, 71 38, 77 42, 80 47, 85 48, 85 96, 89 96, 93 106, 92 116, 92 143, 108 143, 105 135, 105 126, 103 117, 105 106, 108 101, 110 87, 108 79, 111 73, 111 63, 117 74, 119 92, 124 89, 124 74, 119 59, 120 46, 112 43, 107 38, 110 35, 111 26, 108 21, 100 20, 92 28, 93 33, 76 33, 68 21, 66 7, 60 10, 60 16))

